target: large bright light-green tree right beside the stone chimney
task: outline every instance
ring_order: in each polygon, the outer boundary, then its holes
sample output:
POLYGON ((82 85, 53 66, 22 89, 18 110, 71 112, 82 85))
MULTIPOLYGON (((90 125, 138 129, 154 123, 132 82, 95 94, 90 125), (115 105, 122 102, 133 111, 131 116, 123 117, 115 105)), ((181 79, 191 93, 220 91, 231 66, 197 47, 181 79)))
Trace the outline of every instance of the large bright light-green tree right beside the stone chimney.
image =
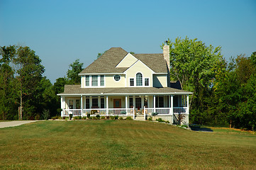
MULTIPOLYGON (((164 44, 162 44, 163 46, 164 44)), ((179 80, 182 90, 192 91, 194 108, 201 108, 201 100, 211 89, 218 61, 222 60, 221 47, 208 47, 197 39, 167 40, 170 54, 170 77, 179 80)))

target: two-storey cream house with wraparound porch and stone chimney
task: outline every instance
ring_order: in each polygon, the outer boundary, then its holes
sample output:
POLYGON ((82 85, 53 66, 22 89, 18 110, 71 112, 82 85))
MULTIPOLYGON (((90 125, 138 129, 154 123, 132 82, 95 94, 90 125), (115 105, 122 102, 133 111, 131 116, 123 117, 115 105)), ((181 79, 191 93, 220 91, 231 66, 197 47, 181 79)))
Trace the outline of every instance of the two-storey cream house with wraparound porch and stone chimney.
POLYGON ((65 85, 62 116, 100 115, 157 117, 189 123, 189 91, 172 88, 169 80, 169 45, 163 54, 130 54, 112 47, 80 72, 81 85, 65 85), (175 116, 176 115, 176 116, 175 116))

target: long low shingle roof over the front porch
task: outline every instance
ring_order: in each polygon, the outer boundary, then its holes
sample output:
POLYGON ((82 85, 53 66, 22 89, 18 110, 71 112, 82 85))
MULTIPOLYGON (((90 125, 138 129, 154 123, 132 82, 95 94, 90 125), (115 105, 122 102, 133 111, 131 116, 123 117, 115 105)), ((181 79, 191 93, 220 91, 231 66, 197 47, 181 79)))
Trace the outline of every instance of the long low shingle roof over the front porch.
POLYGON ((115 94, 191 94, 189 91, 182 91, 170 87, 121 87, 121 88, 81 88, 80 85, 65 85, 65 91, 59 95, 87 94, 87 95, 115 95, 115 94))

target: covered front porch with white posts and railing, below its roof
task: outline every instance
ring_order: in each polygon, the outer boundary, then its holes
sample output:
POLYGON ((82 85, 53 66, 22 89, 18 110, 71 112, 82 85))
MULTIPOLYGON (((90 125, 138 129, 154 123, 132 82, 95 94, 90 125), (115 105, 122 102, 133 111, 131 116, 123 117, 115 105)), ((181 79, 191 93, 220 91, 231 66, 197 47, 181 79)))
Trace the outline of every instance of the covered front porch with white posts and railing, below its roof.
POLYGON ((189 123, 189 95, 67 95, 61 96, 61 116, 118 115, 133 119, 147 119, 152 113, 158 118, 177 123, 183 115, 184 124, 189 123))

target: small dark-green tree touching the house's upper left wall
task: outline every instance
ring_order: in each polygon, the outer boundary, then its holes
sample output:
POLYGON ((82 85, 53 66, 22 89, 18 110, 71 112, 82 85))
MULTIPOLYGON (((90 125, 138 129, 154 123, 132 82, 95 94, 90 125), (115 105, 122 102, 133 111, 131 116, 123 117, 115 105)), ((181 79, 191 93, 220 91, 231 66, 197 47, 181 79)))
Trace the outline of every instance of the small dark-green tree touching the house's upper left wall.
POLYGON ((69 84, 80 84, 81 79, 79 73, 83 70, 83 63, 79 62, 79 59, 75 60, 72 64, 69 64, 69 67, 72 69, 67 70, 67 78, 69 79, 69 84))

